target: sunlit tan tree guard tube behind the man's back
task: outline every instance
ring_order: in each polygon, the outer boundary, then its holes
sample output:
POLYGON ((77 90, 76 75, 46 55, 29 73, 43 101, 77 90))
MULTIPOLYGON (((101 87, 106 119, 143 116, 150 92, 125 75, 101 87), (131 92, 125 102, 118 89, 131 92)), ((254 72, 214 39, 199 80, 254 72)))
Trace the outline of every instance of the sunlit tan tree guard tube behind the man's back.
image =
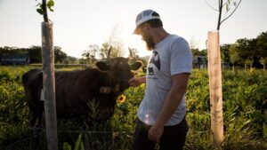
POLYGON ((223 89, 219 31, 209 31, 207 38, 211 130, 214 146, 223 142, 223 89))

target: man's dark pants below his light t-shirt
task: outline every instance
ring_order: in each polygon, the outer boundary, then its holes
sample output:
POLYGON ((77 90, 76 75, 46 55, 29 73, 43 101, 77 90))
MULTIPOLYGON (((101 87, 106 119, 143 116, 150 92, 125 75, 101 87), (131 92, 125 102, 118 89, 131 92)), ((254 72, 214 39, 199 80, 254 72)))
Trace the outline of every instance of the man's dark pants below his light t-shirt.
MULTIPOLYGON (((156 143, 150 141, 148 133, 150 125, 137 119, 134 131, 134 150, 154 150, 156 143)), ((160 138, 160 150, 182 150, 187 134, 188 126, 185 119, 174 126, 165 126, 160 138)))

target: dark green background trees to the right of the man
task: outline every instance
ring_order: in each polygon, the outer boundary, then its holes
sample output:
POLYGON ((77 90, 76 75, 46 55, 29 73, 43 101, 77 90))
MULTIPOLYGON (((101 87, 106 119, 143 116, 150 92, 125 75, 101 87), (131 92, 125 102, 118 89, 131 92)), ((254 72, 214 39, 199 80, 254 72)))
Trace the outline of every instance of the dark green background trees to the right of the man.
MULTIPOLYGON (((194 56, 207 56, 206 49, 199 51, 191 48, 194 56)), ((221 45, 221 57, 225 63, 232 67, 263 67, 267 63, 267 31, 256 38, 241 38, 236 43, 225 43, 221 45)))

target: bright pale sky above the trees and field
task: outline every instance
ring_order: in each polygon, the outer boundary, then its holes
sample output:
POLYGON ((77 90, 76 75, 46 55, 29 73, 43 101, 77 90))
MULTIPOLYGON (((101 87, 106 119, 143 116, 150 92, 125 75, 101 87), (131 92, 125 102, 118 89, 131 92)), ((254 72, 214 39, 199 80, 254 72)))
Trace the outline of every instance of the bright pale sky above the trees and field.
MULTIPOLYGON (((41 45, 41 22, 36 12, 41 0, 0 0, 0 47, 28 48, 41 45)), ((170 34, 184 37, 199 50, 206 48, 207 32, 216 29, 217 0, 54 0, 53 44, 69 56, 81 58, 90 44, 105 43, 114 28, 127 48, 140 56, 150 55, 140 36, 132 33, 139 12, 152 9, 159 13, 170 34)), ((256 38, 267 31, 267 0, 242 0, 231 18, 220 29, 220 43, 235 43, 240 38, 256 38), (264 17, 265 16, 265 17, 264 17)))

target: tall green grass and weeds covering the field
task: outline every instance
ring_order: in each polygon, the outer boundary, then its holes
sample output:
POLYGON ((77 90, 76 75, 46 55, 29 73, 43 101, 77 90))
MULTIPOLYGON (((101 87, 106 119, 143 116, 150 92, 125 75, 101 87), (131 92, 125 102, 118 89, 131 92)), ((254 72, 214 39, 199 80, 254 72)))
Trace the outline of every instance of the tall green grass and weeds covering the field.
MULTIPOLYGON (((28 107, 21 75, 32 67, 0 67, 0 149, 46 149, 44 128, 29 129, 28 107)), ((136 111, 145 85, 130 88, 117 103, 109 122, 81 117, 58 120, 59 147, 75 147, 77 138, 85 149, 133 149, 136 111), (91 122, 88 125, 88 122, 91 122)), ((223 70, 223 149, 267 148, 267 72, 223 70)), ((190 130, 184 149, 216 149, 212 146, 209 87, 206 70, 194 70, 186 93, 190 130)), ((97 99, 95 99, 97 100, 97 99)), ((91 107, 96 106, 90 104, 91 107)), ((97 110, 95 110, 97 113, 97 110)))

